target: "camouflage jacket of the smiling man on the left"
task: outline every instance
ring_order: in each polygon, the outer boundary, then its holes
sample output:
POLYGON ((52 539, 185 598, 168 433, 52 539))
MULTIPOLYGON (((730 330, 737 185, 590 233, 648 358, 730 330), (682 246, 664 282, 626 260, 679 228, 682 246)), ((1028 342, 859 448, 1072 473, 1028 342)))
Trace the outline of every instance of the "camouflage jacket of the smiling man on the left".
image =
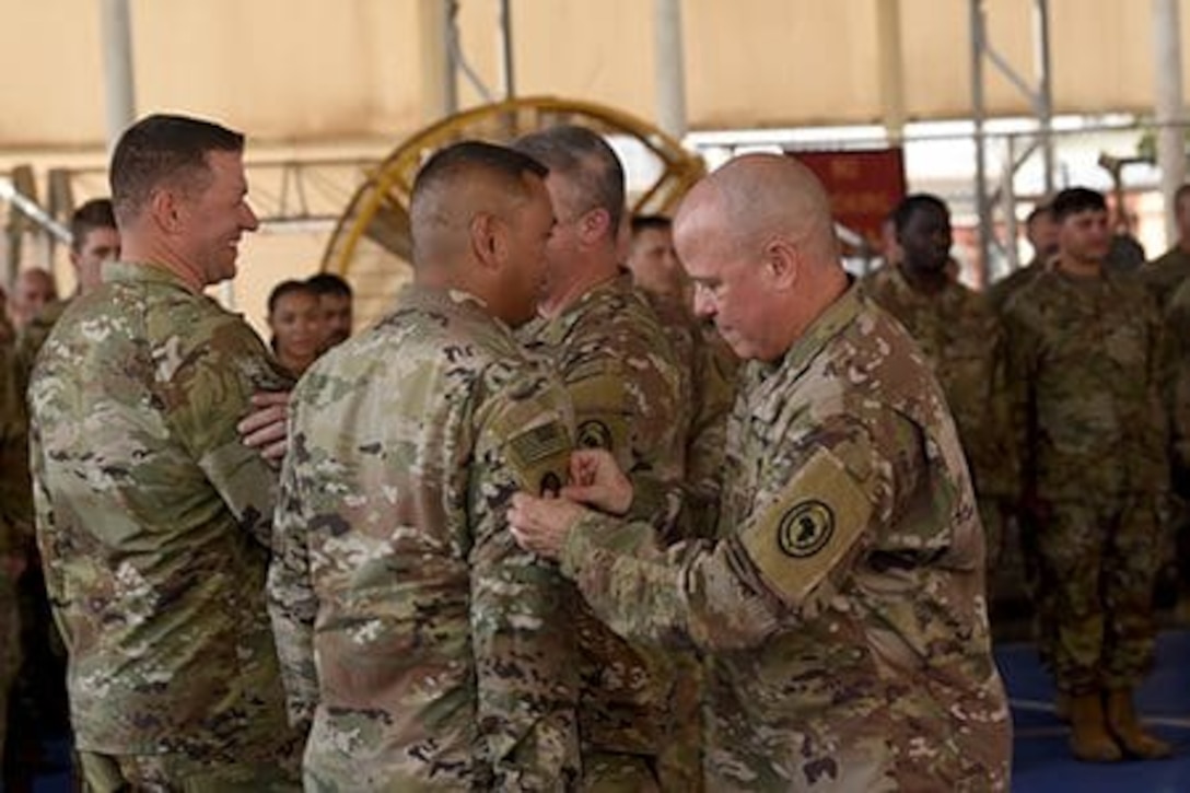
POLYGON ((236 423, 292 381, 237 316, 113 263, 30 385, 37 535, 80 749, 275 757, 288 738, 264 597, 276 474, 236 423))

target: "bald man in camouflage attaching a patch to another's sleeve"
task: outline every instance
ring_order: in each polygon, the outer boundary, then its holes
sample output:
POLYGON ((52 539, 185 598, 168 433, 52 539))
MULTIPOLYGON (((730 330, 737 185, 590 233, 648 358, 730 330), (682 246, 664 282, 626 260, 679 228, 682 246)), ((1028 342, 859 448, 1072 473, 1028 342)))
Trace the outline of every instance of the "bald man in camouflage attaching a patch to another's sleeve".
POLYGON ((685 516, 715 539, 662 550, 569 500, 634 513, 645 486, 580 452, 568 499, 514 497, 519 542, 618 633, 708 652, 708 789, 1007 789, 954 424, 906 331, 848 283, 822 187, 740 157, 695 186, 675 238, 699 313, 750 360, 722 499, 685 516))

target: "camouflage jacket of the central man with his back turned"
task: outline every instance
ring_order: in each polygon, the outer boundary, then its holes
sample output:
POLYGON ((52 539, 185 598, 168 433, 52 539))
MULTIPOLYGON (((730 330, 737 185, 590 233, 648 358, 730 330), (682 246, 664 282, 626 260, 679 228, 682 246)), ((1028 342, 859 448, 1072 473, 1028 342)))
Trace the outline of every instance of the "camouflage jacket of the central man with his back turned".
POLYGON ((564 580, 507 530, 574 447, 544 361, 464 293, 412 286, 290 405, 270 610, 307 782, 566 789, 578 774, 564 580))

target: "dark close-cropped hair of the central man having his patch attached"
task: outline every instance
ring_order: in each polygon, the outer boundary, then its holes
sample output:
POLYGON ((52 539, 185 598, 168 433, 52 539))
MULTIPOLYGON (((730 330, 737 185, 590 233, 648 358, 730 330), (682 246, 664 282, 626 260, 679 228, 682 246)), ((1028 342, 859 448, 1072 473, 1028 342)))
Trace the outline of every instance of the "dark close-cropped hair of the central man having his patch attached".
POLYGON ((547 173, 528 155, 480 141, 434 154, 418 173, 409 199, 414 269, 459 263, 471 244, 472 223, 511 214, 532 198, 532 180, 547 173))

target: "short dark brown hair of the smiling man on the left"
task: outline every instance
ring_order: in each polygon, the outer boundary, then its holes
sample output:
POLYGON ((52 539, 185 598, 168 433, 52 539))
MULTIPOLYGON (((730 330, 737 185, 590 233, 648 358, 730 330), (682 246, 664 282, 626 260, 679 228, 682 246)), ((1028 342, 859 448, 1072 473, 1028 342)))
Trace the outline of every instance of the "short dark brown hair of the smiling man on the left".
POLYGON ((203 187, 211 177, 208 152, 243 150, 242 133, 213 121, 167 114, 140 119, 125 130, 112 154, 108 179, 117 219, 134 218, 163 185, 203 187))

